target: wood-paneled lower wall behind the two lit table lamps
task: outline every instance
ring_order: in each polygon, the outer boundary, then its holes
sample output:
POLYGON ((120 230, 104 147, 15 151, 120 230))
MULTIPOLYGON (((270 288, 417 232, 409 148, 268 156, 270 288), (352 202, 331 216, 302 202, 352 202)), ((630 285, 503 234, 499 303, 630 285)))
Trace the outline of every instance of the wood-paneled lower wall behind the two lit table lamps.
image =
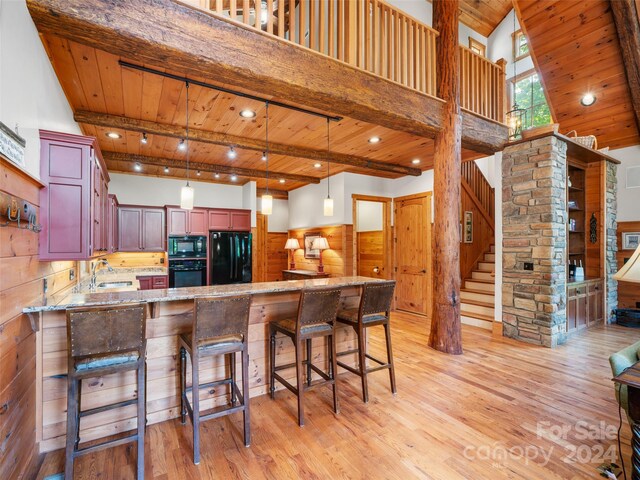
MULTIPOLYGON (((297 238, 300 246, 304 246, 305 233, 319 233, 327 238, 329 250, 322 254, 324 271, 332 277, 353 275, 353 225, 336 225, 330 227, 303 228, 289 230, 289 237, 297 238)), ((318 260, 304 258, 304 248, 295 252, 296 268, 317 270, 318 260)))

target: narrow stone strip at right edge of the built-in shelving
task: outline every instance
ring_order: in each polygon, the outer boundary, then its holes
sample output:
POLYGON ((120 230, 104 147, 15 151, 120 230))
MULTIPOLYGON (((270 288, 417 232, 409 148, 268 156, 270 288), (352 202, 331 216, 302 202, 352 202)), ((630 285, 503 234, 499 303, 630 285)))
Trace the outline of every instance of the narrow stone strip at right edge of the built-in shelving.
POLYGON ((616 170, 618 166, 615 163, 607 162, 607 189, 605 192, 605 218, 607 229, 607 243, 605 252, 605 285, 607 288, 607 306, 608 312, 605 312, 605 321, 612 319, 612 312, 618 308, 618 282, 613 279, 613 275, 618 270, 618 262, 616 260, 616 252, 618 251, 618 241, 616 231, 618 229, 616 215, 618 210, 618 180, 616 170))

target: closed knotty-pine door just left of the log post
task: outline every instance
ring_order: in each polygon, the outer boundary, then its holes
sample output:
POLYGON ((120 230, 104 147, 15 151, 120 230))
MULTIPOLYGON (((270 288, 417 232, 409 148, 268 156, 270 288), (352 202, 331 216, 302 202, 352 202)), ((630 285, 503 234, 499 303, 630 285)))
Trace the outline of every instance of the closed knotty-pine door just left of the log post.
POLYGON ((396 308, 431 315, 431 193, 394 202, 396 308))

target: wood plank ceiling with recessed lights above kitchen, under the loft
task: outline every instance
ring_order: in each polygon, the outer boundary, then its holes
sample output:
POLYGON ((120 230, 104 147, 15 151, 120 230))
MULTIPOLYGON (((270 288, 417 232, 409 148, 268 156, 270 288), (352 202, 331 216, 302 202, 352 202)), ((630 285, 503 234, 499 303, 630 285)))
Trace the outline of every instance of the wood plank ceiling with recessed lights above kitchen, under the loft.
MULTIPOLYGON (((184 127, 186 120, 186 88, 184 83, 125 68, 118 63, 119 60, 134 64, 137 62, 61 37, 46 34, 42 35, 42 40, 74 112, 108 113, 184 127)), ((182 75, 181 72, 171 73, 182 75)), ((216 83, 215 79, 198 78, 196 80, 216 83)), ((232 85, 219 86, 238 90, 232 85)), ((290 103, 286 99, 273 100, 290 103)), ((331 112, 322 113, 331 114, 331 112)), ((327 129, 324 118, 273 105, 269 108, 269 117, 270 142, 317 150, 326 149, 327 129)), ((264 140, 265 106, 255 100, 192 84, 189 89, 189 124, 190 128, 264 140), (256 117, 253 119, 240 117, 239 112, 245 108, 254 110, 256 117)), ((164 172, 164 166, 159 165, 145 165, 142 172, 135 172, 134 162, 109 159, 107 160, 107 168, 110 172, 167 178, 184 178, 186 174, 183 168, 175 168, 171 164, 172 160, 184 161, 186 158, 185 153, 178 149, 179 138, 147 134, 148 141, 143 144, 140 132, 86 123, 81 123, 80 126, 86 135, 95 136, 98 139, 100 149, 104 153, 116 152, 167 159, 166 166, 169 167, 168 173, 164 172), (111 139, 107 137, 107 133, 110 131, 121 134, 122 138, 111 139)), ((196 141, 191 141, 190 145, 190 160, 193 162, 265 170, 265 162, 262 161, 262 152, 260 151, 237 149, 237 158, 230 160, 227 157, 229 148, 226 146, 196 141)), ((422 170, 432 168, 433 141, 431 139, 351 118, 331 122, 331 150, 389 164, 417 167, 422 170), (372 136, 379 136, 382 141, 375 145, 371 144, 368 139, 372 136), (419 165, 412 163, 415 158, 421 160, 419 165)), ((466 150, 463 151, 463 154, 465 160, 482 156, 466 150)), ((269 170, 316 178, 327 176, 325 162, 285 155, 270 155, 269 170), (320 164, 319 167, 315 166, 318 164, 320 164)), ((349 171, 386 178, 401 176, 393 172, 356 168, 335 163, 331 163, 330 171, 332 175, 349 171)), ((197 176, 196 172, 192 172, 191 175, 198 181, 234 183, 230 173, 220 173, 219 178, 216 178, 213 172, 202 172, 200 176, 197 176)), ((265 179, 241 177, 240 175, 235 183, 243 184, 248 180, 256 180, 258 188, 266 187, 265 179)), ((270 177, 269 187, 289 191, 306 183, 293 180, 282 182, 277 175, 274 175, 273 180, 270 177)))

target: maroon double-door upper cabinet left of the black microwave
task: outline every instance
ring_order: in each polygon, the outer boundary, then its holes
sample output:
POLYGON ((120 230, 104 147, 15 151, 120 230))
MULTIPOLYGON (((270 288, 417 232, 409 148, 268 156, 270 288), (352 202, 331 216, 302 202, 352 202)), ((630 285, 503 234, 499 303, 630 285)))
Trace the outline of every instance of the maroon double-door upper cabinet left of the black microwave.
POLYGON ((163 208, 121 205, 118 208, 118 250, 121 252, 164 252, 163 208))

